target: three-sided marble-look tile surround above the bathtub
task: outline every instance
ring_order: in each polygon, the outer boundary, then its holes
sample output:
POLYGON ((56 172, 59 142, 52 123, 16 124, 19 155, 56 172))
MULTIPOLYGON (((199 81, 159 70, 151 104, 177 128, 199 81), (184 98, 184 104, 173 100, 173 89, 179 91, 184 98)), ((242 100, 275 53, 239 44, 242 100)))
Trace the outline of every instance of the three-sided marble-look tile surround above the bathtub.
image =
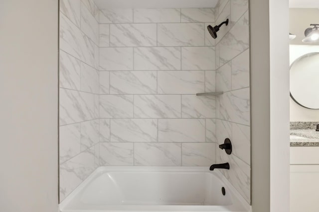
POLYGON ((247 0, 109 10, 60 1, 60 201, 98 166, 217 160, 230 162, 223 173, 250 202, 247 0), (212 39, 207 25, 226 17, 212 39), (214 91, 225 94, 195 95, 214 91), (217 145, 225 136, 229 158, 217 145))

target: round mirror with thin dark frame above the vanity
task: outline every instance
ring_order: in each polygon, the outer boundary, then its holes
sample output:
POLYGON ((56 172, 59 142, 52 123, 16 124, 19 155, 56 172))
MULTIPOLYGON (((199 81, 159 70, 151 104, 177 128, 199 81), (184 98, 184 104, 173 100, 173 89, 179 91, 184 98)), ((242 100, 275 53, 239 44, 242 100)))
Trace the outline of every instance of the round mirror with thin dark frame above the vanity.
POLYGON ((290 66, 290 96, 299 105, 319 109, 319 53, 309 53, 290 66))

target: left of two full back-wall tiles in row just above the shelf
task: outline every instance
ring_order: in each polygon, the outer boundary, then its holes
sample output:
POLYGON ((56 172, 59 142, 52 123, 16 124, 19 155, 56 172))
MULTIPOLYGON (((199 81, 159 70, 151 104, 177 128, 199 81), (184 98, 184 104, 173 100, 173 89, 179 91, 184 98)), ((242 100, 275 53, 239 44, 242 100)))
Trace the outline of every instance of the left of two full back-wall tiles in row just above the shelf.
POLYGON ((156 71, 111 71, 112 94, 156 94, 156 71))

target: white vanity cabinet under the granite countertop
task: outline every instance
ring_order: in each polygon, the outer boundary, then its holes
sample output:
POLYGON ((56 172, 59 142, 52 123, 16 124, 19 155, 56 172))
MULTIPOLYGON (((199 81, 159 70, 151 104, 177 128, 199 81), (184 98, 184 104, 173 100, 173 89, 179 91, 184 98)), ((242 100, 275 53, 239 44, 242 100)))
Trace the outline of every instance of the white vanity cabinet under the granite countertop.
POLYGON ((290 147, 290 212, 319 212, 319 146, 290 147))

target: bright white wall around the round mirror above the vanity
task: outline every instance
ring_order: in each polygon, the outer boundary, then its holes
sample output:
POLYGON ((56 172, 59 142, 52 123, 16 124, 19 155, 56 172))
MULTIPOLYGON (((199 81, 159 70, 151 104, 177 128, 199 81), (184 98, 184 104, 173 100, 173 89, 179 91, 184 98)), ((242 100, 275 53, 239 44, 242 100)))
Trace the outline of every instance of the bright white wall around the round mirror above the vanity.
MULTIPOLYGON (((290 45, 290 64, 292 64, 299 57, 312 52, 319 52, 319 46, 318 45, 290 45)), ((319 110, 304 108, 298 105, 292 98, 290 98, 290 121, 291 122, 318 122, 319 110)))

